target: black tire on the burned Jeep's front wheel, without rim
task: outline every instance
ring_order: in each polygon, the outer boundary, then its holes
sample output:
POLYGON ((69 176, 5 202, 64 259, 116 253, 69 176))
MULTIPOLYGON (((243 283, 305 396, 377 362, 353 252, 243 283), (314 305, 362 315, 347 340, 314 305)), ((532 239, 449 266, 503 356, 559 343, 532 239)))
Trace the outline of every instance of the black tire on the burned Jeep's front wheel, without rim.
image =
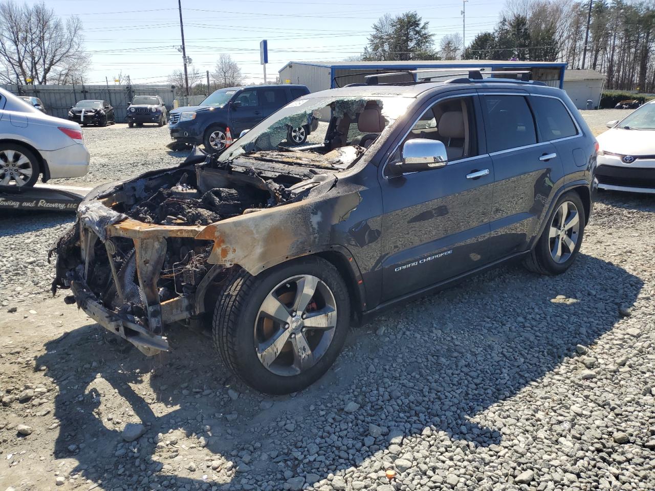
POLYGON ((349 322, 348 289, 337 268, 325 259, 307 257, 280 264, 258 276, 244 270, 233 274, 225 283, 214 309, 214 346, 231 371, 255 390, 288 394, 307 388, 326 373, 343 348, 349 322), (333 335, 318 361, 299 374, 284 376, 269 371, 260 361, 256 352, 255 325, 264 299, 276 285, 294 275, 312 275, 323 282, 333 295, 337 316, 333 335))

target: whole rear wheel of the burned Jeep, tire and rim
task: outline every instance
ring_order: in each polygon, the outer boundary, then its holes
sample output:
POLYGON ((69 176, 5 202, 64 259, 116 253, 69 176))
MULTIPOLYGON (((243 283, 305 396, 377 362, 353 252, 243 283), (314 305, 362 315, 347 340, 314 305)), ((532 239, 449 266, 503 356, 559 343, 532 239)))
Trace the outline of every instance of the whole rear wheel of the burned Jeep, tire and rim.
POLYGON ((549 217, 525 266, 540 274, 561 274, 575 261, 586 223, 584 206, 578 193, 563 194, 555 203, 555 211, 549 217))

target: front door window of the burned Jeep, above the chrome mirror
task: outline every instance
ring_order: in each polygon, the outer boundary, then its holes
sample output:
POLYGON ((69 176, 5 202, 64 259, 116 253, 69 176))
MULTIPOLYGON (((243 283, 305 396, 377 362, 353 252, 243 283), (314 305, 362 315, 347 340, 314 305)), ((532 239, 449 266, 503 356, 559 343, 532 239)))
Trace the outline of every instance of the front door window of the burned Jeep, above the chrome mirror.
POLYGON ((407 139, 426 138, 443 142, 448 160, 478 155, 475 110, 471 97, 441 100, 421 115, 407 139))

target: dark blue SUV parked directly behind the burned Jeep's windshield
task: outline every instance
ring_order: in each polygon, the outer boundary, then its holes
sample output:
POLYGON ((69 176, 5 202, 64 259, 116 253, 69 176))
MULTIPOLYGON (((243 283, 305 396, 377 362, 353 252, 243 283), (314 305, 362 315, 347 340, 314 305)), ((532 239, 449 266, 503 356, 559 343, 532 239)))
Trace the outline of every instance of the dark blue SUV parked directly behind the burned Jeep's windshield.
MULTIPOLYGON (((204 145, 209 153, 225 149, 227 129, 232 137, 269 117, 300 96, 309 94, 304 85, 260 85, 221 88, 196 106, 170 111, 168 128, 176 141, 204 145)), ((297 144, 305 143, 311 121, 299 122, 287 134, 297 144), (304 123, 304 124, 303 124, 304 123)))

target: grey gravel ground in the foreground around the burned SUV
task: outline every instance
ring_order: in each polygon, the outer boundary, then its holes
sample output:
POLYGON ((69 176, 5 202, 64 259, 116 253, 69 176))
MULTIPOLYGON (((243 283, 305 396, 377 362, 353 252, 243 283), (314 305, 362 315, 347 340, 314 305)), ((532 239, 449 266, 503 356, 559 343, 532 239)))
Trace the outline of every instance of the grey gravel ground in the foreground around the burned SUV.
POLYGON ((69 219, 0 219, 0 489, 655 489, 650 196, 601 194, 566 274, 503 266, 396 308, 272 398, 204 330, 145 358, 48 298, 69 219))

